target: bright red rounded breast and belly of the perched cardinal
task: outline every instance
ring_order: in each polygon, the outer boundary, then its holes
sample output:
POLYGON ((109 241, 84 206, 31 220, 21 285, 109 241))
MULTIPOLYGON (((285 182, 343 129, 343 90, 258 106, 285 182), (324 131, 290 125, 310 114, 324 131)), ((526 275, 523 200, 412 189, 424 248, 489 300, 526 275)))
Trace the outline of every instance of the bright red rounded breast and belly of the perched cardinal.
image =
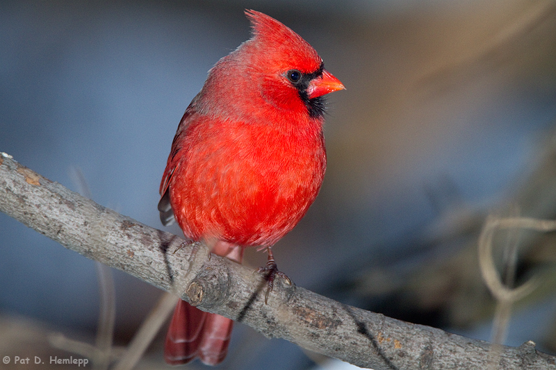
POLYGON ((170 185, 184 233, 272 245, 303 217, 324 176, 319 122, 303 130, 223 121, 193 128, 170 185))

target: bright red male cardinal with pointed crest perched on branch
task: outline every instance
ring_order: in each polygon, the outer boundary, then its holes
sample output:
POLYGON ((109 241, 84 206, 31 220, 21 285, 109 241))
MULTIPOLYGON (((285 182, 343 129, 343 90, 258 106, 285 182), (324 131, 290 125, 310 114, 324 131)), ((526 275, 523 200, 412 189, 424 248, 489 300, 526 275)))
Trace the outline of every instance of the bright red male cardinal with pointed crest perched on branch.
MULTIPOLYGON (((271 246, 305 215, 325 174, 322 96, 344 86, 300 35, 245 14, 252 37, 208 72, 179 123, 158 210, 163 224, 175 217, 186 237, 212 240, 213 253, 238 263, 245 247, 266 248, 268 294, 281 274, 271 246)), ((179 301, 166 362, 222 362, 232 324, 179 301)))

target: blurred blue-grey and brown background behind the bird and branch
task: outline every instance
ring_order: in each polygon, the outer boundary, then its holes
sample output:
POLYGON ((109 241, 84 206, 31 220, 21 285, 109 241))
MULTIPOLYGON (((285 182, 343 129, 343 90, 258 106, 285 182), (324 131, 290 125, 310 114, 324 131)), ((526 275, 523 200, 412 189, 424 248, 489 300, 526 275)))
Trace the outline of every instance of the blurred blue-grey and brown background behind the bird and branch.
MULTIPOLYGON (((77 169, 97 203, 163 228, 177 124, 208 69, 250 36, 245 8, 299 33, 347 87, 328 98, 325 182, 274 249, 281 271, 343 303, 491 339, 484 220, 556 218, 554 1, 3 1, 0 151, 76 191, 77 169)), ((518 245, 511 284, 541 280, 512 306, 505 344, 556 354, 555 237, 496 238, 501 272, 518 245)), ((50 333, 92 343, 95 264, 3 214, 0 244, 0 355, 71 355, 50 333)), ((253 267, 265 258, 246 253, 253 267)), ((124 346, 161 292, 113 274, 124 346)), ((142 368, 167 368, 164 332, 142 368)), ((339 366, 242 324, 220 365, 339 366)))

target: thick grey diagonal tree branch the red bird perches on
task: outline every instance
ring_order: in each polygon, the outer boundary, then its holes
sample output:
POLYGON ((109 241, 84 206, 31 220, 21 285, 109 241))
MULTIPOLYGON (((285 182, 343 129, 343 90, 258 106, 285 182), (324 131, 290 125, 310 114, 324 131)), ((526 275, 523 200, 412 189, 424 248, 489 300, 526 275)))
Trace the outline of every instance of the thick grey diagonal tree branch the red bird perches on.
MULTIPOLYGON (((180 292, 201 310, 243 322, 267 337, 373 369, 556 369, 533 342, 502 347, 354 308, 301 287, 277 283, 264 303, 259 274, 184 239, 83 198, 0 153, 0 211, 92 260, 180 292), (186 272, 188 271, 188 274, 186 272)), ((281 279, 279 279, 281 282, 281 279)))

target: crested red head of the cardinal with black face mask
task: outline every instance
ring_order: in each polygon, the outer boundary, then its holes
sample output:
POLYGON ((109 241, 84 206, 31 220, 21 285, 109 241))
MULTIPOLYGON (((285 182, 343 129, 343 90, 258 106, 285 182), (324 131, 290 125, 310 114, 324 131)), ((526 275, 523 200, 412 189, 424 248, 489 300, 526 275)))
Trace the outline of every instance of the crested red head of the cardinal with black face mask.
POLYGON ((343 89, 342 83, 300 35, 261 12, 245 14, 252 37, 211 69, 197 110, 259 123, 322 119, 322 96, 343 89))

